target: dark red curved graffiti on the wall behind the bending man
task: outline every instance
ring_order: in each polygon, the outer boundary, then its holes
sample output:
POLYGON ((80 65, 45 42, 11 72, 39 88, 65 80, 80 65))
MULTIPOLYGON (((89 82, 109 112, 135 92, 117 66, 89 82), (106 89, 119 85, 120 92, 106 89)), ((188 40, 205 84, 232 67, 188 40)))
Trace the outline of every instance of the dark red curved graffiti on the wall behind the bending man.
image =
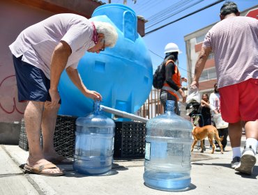
POLYGON ((17 101, 17 87, 15 75, 4 78, 0 83, 0 109, 6 114, 24 114, 25 104, 17 101))

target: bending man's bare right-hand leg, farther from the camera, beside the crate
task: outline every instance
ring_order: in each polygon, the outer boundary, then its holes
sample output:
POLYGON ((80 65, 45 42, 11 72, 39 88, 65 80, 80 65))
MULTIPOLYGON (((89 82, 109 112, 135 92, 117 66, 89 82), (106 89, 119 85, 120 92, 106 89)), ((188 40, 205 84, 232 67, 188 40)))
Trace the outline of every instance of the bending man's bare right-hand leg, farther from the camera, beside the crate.
POLYGON ((65 159, 64 157, 60 157, 56 150, 54 149, 54 130, 56 127, 56 118, 57 112, 59 111, 60 104, 57 104, 55 107, 47 107, 47 104, 50 102, 45 102, 45 108, 43 111, 42 118, 42 134, 43 134, 43 154, 45 159, 51 160, 54 163, 68 163, 71 161, 69 159, 65 159), (59 159, 59 160, 58 160, 59 159))

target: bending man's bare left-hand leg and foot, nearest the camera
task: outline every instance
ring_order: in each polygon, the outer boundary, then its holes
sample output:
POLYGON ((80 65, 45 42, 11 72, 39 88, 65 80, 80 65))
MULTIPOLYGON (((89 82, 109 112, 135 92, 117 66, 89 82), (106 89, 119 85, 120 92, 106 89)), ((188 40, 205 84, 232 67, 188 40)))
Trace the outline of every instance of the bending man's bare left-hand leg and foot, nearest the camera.
MULTIPOLYGON (((26 127, 26 135, 29 142, 29 157, 27 165, 36 167, 44 164, 49 164, 40 146, 40 124, 43 115, 44 102, 29 101, 24 112, 24 123, 26 127)), ((59 173, 60 170, 44 169, 43 173, 59 173)))

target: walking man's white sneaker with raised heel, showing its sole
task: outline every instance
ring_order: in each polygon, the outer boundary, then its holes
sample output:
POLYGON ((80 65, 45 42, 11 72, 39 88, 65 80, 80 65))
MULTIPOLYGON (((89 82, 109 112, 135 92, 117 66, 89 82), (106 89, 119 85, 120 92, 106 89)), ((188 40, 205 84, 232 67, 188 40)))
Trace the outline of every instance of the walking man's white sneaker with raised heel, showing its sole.
POLYGON ((245 150, 243 150, 240 163, 236 166, 235 170, 240 173, 251 175, 255 163, 255 151, 252 150, 252 146, 249 146, 249 148, 245 148, 245 150))

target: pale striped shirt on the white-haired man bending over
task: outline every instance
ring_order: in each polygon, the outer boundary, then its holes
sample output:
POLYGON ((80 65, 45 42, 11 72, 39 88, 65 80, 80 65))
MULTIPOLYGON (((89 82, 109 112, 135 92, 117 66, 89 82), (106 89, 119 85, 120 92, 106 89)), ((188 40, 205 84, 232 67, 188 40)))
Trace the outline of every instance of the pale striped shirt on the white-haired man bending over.
POLYGON ((33 24, 26 28, 9 47, 15 57, 40 68, 50 79, 50 63, 54 48, 63 40, 70 45, 66 68, 77 68, 79 59, 93 47, 93 25, 80 15, 65 13, 33 24))

